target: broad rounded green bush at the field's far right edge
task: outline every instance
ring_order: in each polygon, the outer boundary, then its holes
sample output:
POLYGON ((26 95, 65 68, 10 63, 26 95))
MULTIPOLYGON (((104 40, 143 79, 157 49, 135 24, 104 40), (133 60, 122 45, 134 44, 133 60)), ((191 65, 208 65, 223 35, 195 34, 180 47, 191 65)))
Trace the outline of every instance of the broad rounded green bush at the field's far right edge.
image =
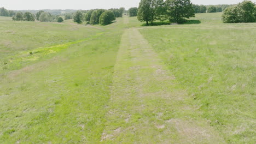
POLYGON ((256 22, 256 7, 251 1, 243 1, 224 10, 222 20, 224 23, 256 22))

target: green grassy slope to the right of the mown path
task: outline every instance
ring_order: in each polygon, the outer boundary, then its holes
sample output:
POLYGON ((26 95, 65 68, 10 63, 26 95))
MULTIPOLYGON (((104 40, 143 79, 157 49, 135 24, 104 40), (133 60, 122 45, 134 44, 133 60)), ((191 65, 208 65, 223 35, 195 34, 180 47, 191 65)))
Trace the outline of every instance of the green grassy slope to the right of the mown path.
POLYGON ((220 14, 197 14, 195 19, 201 24, 140 32, 199 111, 188 118, 207 119, 226 142, 253 143, 255 23, 223 24, 220 14))

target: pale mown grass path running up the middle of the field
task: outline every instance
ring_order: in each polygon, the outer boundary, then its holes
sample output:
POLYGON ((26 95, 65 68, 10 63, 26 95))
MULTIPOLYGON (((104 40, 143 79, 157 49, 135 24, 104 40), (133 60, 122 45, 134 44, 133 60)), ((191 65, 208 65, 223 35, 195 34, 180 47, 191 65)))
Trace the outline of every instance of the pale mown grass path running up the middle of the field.
POLYGON ((186 92, 136 28, 124 31, 101 142, 222 143, 205 121, 189 120, 195 108, 186 92))

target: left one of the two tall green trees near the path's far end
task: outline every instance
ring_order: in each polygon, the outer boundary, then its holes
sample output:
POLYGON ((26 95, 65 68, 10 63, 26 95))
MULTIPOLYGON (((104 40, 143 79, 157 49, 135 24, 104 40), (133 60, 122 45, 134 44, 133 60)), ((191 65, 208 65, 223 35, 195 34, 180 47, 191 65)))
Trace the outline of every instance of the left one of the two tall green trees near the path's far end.
POLYGON ((154 22, 161 15, 164 6, 163 0, 141 0, 138 7, 139 21, 154 22))

